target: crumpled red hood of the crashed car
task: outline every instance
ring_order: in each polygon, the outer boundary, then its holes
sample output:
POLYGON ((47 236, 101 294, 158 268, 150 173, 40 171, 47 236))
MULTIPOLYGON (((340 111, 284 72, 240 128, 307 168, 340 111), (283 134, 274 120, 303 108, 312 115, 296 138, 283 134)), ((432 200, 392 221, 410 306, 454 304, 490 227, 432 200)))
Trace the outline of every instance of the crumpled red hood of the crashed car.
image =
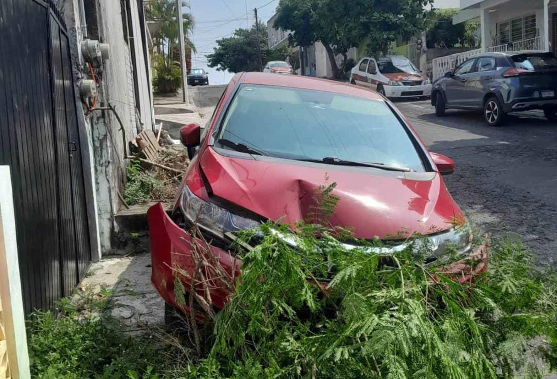
POLYGON ((257 159, 231 158, 209 147, 199 166, 214 196, 291 225, 307 220, 323 189, 336 183, 332 193, 339 202, 329 221, 350 228, 357 238, 431 234, 449 229, 455 218, 463 217, 436 172, 257 159))

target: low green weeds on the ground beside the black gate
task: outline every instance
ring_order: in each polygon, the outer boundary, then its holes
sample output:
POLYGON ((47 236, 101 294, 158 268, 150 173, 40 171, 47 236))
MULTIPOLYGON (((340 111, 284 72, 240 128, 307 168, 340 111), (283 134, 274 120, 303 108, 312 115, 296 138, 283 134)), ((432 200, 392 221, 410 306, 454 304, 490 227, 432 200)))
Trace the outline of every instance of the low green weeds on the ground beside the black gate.
POLYGON ((111 316, 112 294, 85 291, 63 299, 58 314, 36 312, 30 320, 29 351, 33 378, 179 377, 189 351, 172 334, 151 329, 139 337, 111 316))

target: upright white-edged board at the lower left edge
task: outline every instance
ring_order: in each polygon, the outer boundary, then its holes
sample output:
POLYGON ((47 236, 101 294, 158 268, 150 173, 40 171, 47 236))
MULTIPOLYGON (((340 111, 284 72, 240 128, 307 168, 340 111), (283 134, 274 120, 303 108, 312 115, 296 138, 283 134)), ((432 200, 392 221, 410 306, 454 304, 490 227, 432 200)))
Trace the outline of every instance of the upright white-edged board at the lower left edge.
POLYGON ((30 378, 8 166, 0 166, 0 379, 30 378))

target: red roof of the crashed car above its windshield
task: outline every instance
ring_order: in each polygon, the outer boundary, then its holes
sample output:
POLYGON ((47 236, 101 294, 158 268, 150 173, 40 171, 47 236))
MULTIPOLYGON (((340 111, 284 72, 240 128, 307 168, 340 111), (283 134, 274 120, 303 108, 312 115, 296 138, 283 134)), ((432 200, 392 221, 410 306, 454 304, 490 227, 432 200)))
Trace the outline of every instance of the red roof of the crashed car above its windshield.
POLYGON ((342 95, 357 96, 374 100, 383 100, 383 97, 372 90, 364 89, 348 83, 328 79, 301 75, 277 75, 266 72, 243 72, 238 82, 244 84, 272 85, 306 90, 333 92, 342 95))

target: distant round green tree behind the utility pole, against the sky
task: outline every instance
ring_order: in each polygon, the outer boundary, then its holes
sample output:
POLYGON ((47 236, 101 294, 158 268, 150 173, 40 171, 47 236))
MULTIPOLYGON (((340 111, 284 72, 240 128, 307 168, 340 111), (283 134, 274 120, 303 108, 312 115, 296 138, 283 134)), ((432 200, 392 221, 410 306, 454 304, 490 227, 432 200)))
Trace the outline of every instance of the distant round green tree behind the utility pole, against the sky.
MULTIPOLYGON (((263 64, 267 61, 286 60, 289 56, 287 46, 270 49, 267 43, 267 27, 260 23, 259 43, 261 48, 261 60, 263 64)), ((257 28, 239 28, 231 37, 217 40, 217 47, 213 48, 213 54, 207 55, 209 67, 216 67, 219 71, 241 72, 260 71, 259 57, 257 51, 257 28)))

